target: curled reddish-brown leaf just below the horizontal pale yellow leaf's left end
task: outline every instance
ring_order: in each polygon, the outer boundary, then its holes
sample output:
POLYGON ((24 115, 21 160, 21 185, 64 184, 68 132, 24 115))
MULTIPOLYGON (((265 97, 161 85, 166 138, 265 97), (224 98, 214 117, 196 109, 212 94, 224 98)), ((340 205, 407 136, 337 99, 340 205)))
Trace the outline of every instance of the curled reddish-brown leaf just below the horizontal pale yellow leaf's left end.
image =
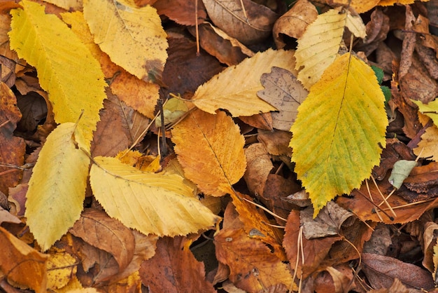
POLYGON ((131 230, 108 217, 104 211, 85 210, 70 233, 113 255, 119 271, 125 270, 134 256, 135 242, 131 230))

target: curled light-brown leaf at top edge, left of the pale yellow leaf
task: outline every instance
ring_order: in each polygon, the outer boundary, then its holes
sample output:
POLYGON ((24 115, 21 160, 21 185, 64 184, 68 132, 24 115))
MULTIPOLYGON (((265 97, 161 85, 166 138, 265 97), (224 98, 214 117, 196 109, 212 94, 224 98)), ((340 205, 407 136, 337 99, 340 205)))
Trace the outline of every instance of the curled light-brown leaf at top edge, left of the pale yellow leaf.
POLYGON ((308 0, 297 1, 292 8, 275 22, 273 33, 278 49, 284 48, 282 34, 299 39, 308 25, 316 20, 318 11, 308 0))

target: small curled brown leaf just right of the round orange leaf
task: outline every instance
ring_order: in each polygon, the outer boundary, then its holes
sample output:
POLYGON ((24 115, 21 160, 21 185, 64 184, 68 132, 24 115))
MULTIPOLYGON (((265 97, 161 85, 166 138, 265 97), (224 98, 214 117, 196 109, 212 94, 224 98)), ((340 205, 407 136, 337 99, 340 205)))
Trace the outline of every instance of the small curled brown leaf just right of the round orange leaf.
POLYGON ((260 196, 263 194, 264 183, 274 168, 271 158, 263 144, 250 144, 245 149, 246 171, 243 178, 251 193, 260 196))

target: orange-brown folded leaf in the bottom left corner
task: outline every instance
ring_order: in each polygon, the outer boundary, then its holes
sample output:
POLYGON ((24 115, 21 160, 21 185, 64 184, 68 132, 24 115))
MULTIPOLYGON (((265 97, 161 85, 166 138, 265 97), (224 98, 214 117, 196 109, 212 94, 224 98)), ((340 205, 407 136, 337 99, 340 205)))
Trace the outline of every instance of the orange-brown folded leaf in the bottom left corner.
MULTIPOLYGON (((0 227, 0 272, 8 282, 46 292, 47 254, 42 254, 0 227)), ((4 277, 3 277, 4 278, 4 277)))

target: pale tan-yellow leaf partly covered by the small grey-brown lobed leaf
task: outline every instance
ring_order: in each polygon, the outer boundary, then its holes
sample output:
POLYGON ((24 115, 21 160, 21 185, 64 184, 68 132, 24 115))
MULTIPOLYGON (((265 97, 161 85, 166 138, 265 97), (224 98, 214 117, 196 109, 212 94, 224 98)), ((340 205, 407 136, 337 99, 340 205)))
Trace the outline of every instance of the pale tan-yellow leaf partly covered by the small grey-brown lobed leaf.
POLYGON ((273 66, 294 72, 293 53, 267 50, 227 67, 199 86, 192 102, 210 114, 215 114, 217 109, 227 109, 233 117, 276 111, 275 107, 257 97, 257 91, 264 89, 260 77, 270 72, 273 66))

